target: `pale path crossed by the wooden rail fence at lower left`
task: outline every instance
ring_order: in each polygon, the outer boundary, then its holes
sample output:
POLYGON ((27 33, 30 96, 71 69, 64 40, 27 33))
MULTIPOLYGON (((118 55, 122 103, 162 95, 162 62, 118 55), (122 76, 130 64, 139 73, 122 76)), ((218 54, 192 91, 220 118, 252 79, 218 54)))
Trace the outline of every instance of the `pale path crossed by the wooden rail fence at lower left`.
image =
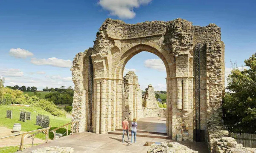
MULTIPOLYGON (((23 133, 22 131, 20 133, 23 133)), ((15 133, 12 133, 12 129, 6 128, 6 127, 0 127, 0 138, 5 136, 12 136, 15 135, 15 133)), ((9 147, 9 146, 17 146, 20 145, 21 136, 15 136, 12 138, 6 138, 6 139, 0 139, 0 147, 9 147)), ((44 140, 41 140, 39 138, 34 138, 34 144, 44 143, 44 140)), ((32 144, 31 138, 26 138, 24 141, 24 145, 26 144, 32 144)))

